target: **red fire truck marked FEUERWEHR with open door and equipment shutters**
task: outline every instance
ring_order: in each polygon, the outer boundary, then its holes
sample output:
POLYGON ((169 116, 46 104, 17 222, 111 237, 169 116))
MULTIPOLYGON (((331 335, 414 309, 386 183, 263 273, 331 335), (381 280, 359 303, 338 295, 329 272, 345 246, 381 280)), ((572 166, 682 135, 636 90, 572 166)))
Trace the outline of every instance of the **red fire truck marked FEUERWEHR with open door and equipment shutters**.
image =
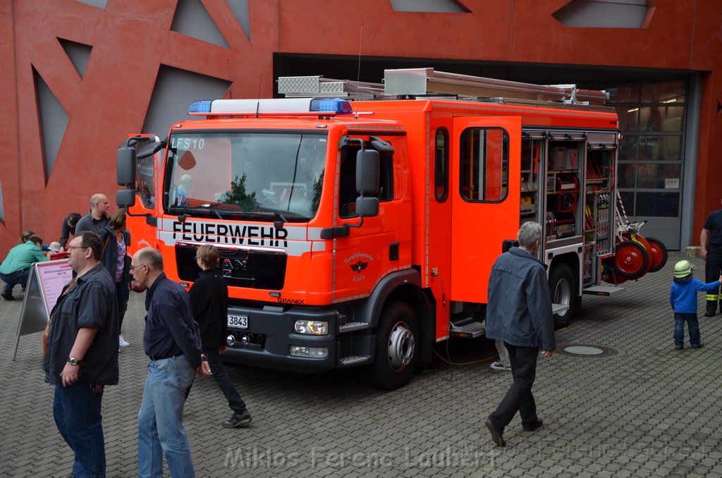
POLYGON ((167 139, 118 150, 131 251, 157 248, 190 287, 196 249, 219 249, 226 360, 402 386, 435 343, 484 334, 491 266, 526 221, 544 227, 557 326, 583 293, 661 267, 663 245, 615 227, 604 92, 433 69, 279 92, 193 103, 167 139))

